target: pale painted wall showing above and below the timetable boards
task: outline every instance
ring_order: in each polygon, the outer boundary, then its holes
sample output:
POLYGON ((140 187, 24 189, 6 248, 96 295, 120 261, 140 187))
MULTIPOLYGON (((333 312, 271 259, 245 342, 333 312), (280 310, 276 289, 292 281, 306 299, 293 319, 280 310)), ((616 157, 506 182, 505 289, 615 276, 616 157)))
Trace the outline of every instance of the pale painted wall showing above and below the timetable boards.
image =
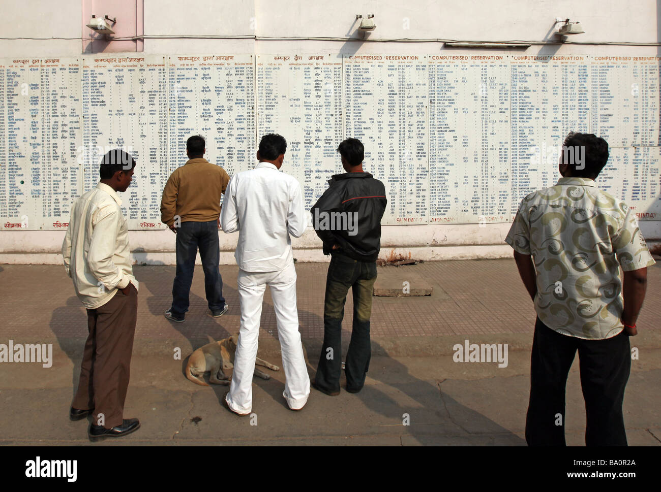
MULTIPOLYGON (((356 31, 356 14, 374 14, 376 30, 371 40, 450 39, 474 41, 542 41, 555 39, 555 17, 578 20, 585 34, 573 36, 576 42, 658 42, 659 7, 656 0, 334 0, 311 2, 292 0, 24 0, 3 4, 1 38, 69 38, 54 40, 0 39, 0 56, 71 56, 89 50, 89 9, 117 17, 122 22, 120 5, 133 9, 124 19, 139 19, 136 26, 147 36, 135 49, 144 53, 438 53, 438 42, 362 41, 356 31), (87 5, 90 4, 90 5, 87 5), (93 4, 93 5, 92 5, 93 4), (102 7, 99 7, 102 5, 102 7), (149 36, 184 36, 159 38, 149 36), (257 36, 258 40, 200 39, 193 36, 257 36), (354 40, 264 40, 282 37, 325 37, 354 40)), ((100 46, 100 45, 99 45, 100 46)), ((126 46, 123 44, 122 46, 126 46)), ((112 43, 104 46, 112 51, 112 43)), ((127 48, 122 48, 126 50, 127 48)), ((457 50, 452 50, 453 53, 457 50)), ((489 53, 511 53, 489 50, 489 53)), ((531 46, 516 50, 525 54, 585 55, 658 55, 657 46, 572 45, 531 46)), ((471 50, 471 54, 479 54, 471 50)), ((408 225, 383 228, 382 252, 410 254, 423 260, 452 258, 497 258, 509 256, 511 249, 503 238, 509 224, 408 225)), ((661 221, 641 222, 648 242, 661 240, 661 221)), ((61 263, 60 231, 0 232, 0 263, 61 263)), ((220 233, 221 262, 233 263, 237 234, 220 233)), ((130 242, 137 262, 174 263, 175 236, 169 230, 132 231, 130 242)), ((299 261, 324 261, 321 242, 313 230, 294 240, 299 261)))

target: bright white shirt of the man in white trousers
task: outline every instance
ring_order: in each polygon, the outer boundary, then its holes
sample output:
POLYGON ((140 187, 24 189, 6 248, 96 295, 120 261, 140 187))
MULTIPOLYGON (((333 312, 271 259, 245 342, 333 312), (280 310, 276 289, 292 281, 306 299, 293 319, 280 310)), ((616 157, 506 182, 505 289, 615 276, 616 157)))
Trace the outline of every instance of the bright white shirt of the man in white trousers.
POLYGON ((239 172, 227 185, 220 225, 239 231, 239 268, 280 271, 293 263, 290 236, 302 236, 307 226, 301 185, 270 162, 239 172))

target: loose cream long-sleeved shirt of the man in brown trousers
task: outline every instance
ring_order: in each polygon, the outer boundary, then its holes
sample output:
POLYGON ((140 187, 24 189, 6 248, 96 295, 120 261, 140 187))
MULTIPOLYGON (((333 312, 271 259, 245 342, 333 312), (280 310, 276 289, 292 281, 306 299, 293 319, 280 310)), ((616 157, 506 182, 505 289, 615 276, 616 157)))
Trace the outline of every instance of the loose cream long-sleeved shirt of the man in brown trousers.
POLYGON ((67 275, 87 309, 102 306, 129 282, 137 290, 121 205, 115 190, 99 183, 71 206, 62 256, 67 275))

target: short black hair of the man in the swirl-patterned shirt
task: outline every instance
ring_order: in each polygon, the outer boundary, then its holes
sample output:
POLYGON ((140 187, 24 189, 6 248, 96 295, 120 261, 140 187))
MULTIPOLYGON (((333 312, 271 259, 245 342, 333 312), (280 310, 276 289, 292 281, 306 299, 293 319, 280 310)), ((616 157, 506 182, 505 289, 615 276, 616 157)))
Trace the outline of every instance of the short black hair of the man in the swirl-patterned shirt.
POLYGON ((567 135, 563 143, 563 162, 569 164, 572 176, 594 180, 608 160, 608 143, 594 133, 567 135))

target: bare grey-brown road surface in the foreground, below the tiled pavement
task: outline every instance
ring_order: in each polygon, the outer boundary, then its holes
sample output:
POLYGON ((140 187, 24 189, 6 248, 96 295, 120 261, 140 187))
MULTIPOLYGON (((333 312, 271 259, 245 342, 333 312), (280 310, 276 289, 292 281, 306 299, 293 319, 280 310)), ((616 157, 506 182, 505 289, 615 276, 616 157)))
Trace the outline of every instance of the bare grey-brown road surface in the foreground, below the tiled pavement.
MULTIPOLYGON (((661 351, 650 352, 657 368, 634 368, 625 396, 625 423, 632 445, 661 445, 658 388, 661 351)), ((649 362, 650 364, 652 361, 649 362)), ((495 370, 475 364, 465 370, 451 357, 373 357, 358 394, 331 397, 311 389, 302 411, 286 406, 284 374, 253 382, 253 418, 222 404, 227 386, 202 387, 186 380, 181 361, 139 356, 132 362, 126 415, 141 429, 102 446, 120 445, 525 445, 529 372, 525 364, 495 370), (526 373, 527 372, 527 373, 526 373), (120 444, 118 444, 120 443, 120 444)), ((51 388, 0 383, 0 444, 87 445, 89 419, 71 422, 73 362, 54 366, 51 388)), ((584 402, 577 364, 567 383, 566 439, 584 445, 584 402)), ((313 374, 313 366, 309 372, 313 374)), ((36 367, 24 378, 36 379, 36 367)), ((344 384, 344 380, 342 380, 344 384)))

